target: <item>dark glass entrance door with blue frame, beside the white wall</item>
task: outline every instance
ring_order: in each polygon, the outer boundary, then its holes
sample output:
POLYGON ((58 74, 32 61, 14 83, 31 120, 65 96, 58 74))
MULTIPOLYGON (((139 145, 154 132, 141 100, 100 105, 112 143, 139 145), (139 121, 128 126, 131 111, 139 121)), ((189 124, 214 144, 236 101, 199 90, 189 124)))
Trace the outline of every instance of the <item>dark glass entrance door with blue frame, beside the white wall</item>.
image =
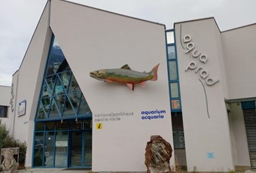
POLYGON ((91 167, 92 133, 91 131, 70 132, 70 167, 91 167))

